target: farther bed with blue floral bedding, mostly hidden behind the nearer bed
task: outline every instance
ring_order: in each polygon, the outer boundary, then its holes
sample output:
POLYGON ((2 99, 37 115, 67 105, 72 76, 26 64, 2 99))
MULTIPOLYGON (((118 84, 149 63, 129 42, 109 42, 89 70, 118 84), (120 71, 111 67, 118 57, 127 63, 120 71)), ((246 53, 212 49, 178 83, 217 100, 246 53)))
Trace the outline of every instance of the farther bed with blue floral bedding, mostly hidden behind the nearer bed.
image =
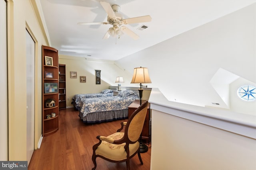
POLYGON ((98 98, 98 97, 106 97, 106 96, 113 96, 113 90, 106 89, 102 90, 100 93, 89 93, 89 94, 76 94, 72 98, 72 102, 74 107, 80 111, 80 102, 85 98, 98 98))

